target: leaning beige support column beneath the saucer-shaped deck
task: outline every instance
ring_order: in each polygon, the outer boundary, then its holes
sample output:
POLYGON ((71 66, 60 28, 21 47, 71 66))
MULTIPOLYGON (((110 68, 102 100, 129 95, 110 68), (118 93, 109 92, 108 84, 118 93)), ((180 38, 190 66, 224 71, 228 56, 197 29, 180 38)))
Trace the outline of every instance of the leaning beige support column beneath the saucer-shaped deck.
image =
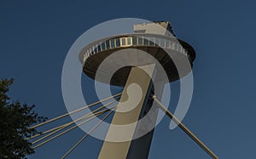
MULTIPOLYGON (((129 77, 125 83, 125 88, 121 99, 119 101, 119 105, 117 111, 113 115, 112 125, 108 129, 108 133, 106 136, 106 141, 104 141, 102 145, 102 150, 98 156, 99 159, 126 159, 126 158, 147 158, 148 151, 152 139, 153 132, 149 132, 143 137, 139 138, 138 141, 134 143, 132 141, 133 136, 139 131, 139 126, 135 125, 129 129, 118 129, 115 125, 126 125, 131 124, 133 122, 137 122, 142 116, 146 107, 148 106, 148 97, 152 91, 152 77, 154 77, 154 65, 145 65, 142 67, 132 67, 129 77), (129 90, 131 85, 136 84, 141 88, 141 92, 132 92, 129 90), (127 94, 129 92, 129 95, 127 94), (133 95, 140 95, 141 100, 138 102, 131 111, 121 112, 123 108, 131 107, 134 99, 130 99, 133 95), (124 134, 125 136, 129 136, 130 139, 125 142, 109 142, 108 139, 119 139, 119 136, 124 134), (142 142, 143 141, 143 142, 142 142), (143 146, 140 146, 142 145, 143 146), (144 146, 147 147, 144 149, 144 146), (142 148, 142 149, 141 149, 142 148), (137 154, 139 152, 139 154, 137 154)), ((157 116, 157 113, 156 113, 157 116)), ((155 122, 155 121, 154 121, 155 122)), ((136 141, 135 139, 134 141, 136 141)))

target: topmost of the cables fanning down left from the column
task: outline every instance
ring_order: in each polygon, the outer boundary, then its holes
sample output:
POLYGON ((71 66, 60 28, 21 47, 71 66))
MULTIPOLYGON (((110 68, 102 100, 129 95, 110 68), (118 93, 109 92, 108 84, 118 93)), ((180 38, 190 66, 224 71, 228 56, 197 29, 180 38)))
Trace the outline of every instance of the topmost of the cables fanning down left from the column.
POLYGON ((54 122, 55 120, 61 119, 62 117, 65 117, 65 116, 68 116, 68 115, 70 115, 70 114, 73 114, 73 113, 82 111, 82 110, 84 110, 84 109, 86 109, 86 108, 89 108, 89 107, 91 107, 91 106, 93 106, 93 105, 97 105, 97 104, 99 104, 99 103, 102 103, 102 102, 104 102, 104 101, 106 101, 106 100, 108 100, 108 99, 113 99, 113 98, 115 98, 115 97, 117 97, 117 96, 119 96, 119 95, 121 95, 121 94, 122 94, 122 93, 115 94, 115 95, 110 96, 110 97, 108 97, 108 98, 106 98, 106 99, 102 99, 102 100, 96 101, 96 102, 93 103, 93 104, 85 105, 85 106, 82 107, 82 108, 79 108, 79 109, 77 109, 77 110, 68 112, 68 113, 63 114, 63 115, 61 115, 61 116, 56 116, 55 118, 50 119, 50 120, 48 120, 48 121, 46 121, 46 122, 41 122, 41 123, 39 123, 38 125, 32 126, 31 128, 38 128, 38 127, 40 127, 40 126, 42 126, 42 125, 44 125, 44 124, 46 124, 46 123, 54 122))

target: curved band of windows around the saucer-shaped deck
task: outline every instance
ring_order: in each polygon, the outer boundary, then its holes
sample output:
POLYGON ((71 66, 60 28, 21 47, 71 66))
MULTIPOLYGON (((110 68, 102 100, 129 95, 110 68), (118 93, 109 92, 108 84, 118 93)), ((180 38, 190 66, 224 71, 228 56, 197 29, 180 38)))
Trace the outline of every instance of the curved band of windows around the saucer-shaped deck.
POLYGON ((84 60, 92 54, 97 54, 111 48, 129 46, 156 46, 161 48, 171 48, 172 50, 187 54, 186 50, 179 44, 168 39, 158 37, 116 37, 103 43, 99 43, 84 52, 84 60))

